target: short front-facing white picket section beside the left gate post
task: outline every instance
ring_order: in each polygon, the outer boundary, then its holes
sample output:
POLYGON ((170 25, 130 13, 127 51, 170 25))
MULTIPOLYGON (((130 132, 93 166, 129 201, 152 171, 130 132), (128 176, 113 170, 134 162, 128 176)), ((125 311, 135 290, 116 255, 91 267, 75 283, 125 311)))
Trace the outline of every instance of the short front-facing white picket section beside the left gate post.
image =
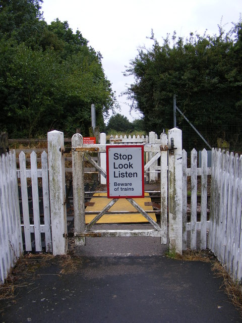
POLYGON ((48 181, 48 155, 45 151, 41 154, 41 169, 37 169, 37 155, 35 151, 30 155, 31 169, 26 169, 26 156, 24 152, 19 154, 20 178, 25 251, 42 251, 41 234, 44 235, 46 252, 52 251, 51 226, 50 226, 50 203, 49 203, 49 181, 48 181), (31 192, 28 190, 28 180, 31 179, 31 192), (38 180, 42 179, 43 195, 43 217, 39 210, 39 187, 38 180), (31 203, 29 203, 31 202, 31 203), (33 212, 30 214, 29 204, 33 212), (33 223, 30 223, 30 218, 33 223), (43 223, 40 222, 40 219, 43 223))

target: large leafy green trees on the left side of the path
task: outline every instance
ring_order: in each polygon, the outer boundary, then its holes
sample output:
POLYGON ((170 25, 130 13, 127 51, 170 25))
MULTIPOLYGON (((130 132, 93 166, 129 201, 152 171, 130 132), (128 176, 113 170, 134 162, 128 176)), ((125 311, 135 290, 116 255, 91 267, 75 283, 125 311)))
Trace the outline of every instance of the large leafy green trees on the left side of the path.
POLYGON ((0 4, 0 126, 9 137, 52 129, 89 134, 91 104, 101 131, 115 103, 100 53, 68 22, 42 20, 38 0, 0 4))

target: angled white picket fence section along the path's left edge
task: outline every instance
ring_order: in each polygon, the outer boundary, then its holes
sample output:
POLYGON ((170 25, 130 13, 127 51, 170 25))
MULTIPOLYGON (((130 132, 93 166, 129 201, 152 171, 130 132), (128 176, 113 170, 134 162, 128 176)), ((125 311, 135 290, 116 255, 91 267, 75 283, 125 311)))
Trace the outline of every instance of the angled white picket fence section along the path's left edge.
POLYGON ((0 157, 0 283, 23 252, 16 155, 0 157))

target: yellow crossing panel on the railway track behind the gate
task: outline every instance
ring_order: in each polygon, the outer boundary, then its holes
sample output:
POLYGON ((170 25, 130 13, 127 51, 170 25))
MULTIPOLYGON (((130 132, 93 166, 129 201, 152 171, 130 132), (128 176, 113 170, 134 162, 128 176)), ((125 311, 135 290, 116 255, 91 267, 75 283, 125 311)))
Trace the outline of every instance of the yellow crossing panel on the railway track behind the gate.
MULTIPOLYGON (((149 216, 156 221, 155 213, 149 213, 153 210, 152 206, 145 206, 145 202, 151 202, 149 193, 145 193, 144 198, 134 198, 134 200, 142 207, 149 216)), ((93 206, 87 206, 86 211, 101 211, 109 202, 111 198, 107 198, 107 193, 94 193, 90 202, 94 202, 93 206), (96 196, 96 197, 95 197, 96 196)), ((126 198, 119 198, 115 204, 113 204, 108 211, 137 211, 137 209, 126 200, 126 198)), ((86 224, 90 223, 95 217, 95 214, 86 214, 86 224)), ((142 223, 148 222, 141 213, 112 213, 104 214, 97 223, 142 223)))

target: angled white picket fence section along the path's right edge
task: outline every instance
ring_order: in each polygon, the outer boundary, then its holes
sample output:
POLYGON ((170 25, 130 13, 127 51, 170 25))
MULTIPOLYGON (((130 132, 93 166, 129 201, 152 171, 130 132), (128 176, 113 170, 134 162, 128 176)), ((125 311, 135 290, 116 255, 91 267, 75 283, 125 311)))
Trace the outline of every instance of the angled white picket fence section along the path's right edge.
POLYGON ((212 150, 209 248, 236 281, 242 279, 242 155, 212 150))

